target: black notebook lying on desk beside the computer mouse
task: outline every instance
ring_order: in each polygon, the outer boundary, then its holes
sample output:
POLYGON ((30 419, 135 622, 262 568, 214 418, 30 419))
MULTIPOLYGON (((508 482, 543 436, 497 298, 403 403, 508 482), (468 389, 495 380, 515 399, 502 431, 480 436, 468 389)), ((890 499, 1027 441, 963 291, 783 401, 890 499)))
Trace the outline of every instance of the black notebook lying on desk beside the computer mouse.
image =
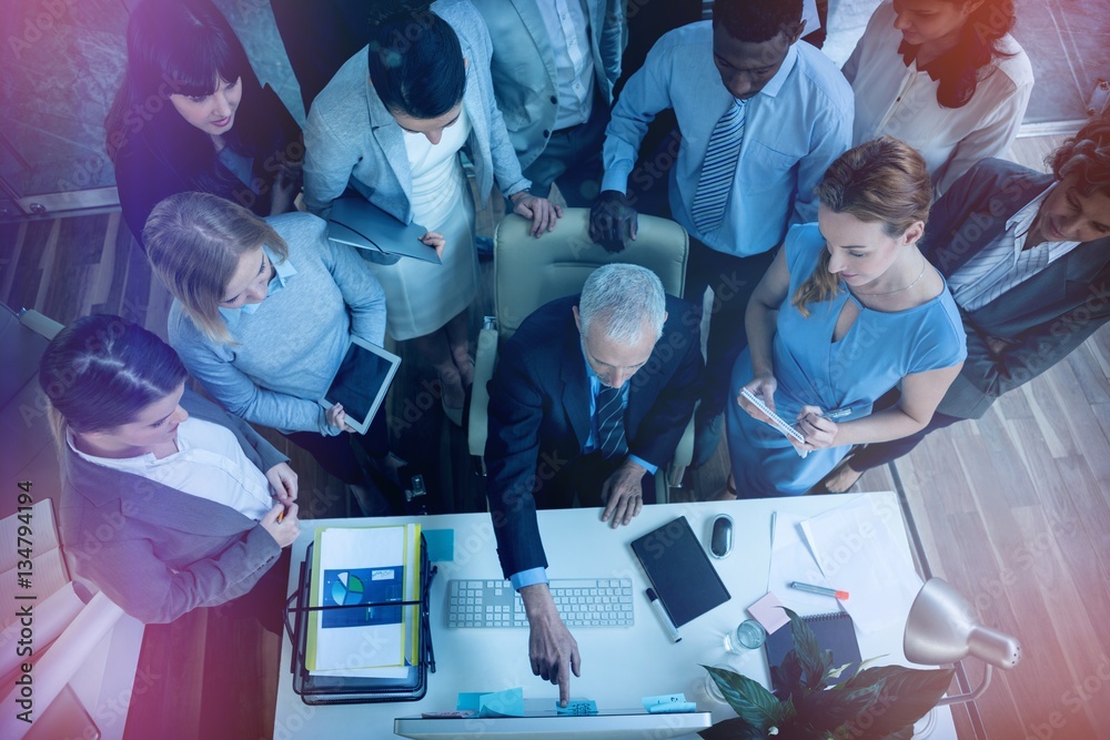
POLYGON ((675 627, 731 598, 684 516, 633 540, 632 549, 675 627))

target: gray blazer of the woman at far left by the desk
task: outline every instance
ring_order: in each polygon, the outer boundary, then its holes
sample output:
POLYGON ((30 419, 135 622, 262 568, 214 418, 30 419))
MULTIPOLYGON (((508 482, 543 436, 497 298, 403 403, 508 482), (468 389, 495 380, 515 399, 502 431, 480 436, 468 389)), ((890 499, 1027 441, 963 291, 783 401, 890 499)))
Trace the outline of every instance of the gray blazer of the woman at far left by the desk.
MULTIPOLYGON (((265 473, 289 458, 245 422, 185 392, 196 418, 228 427, 265 473)), ((230 506, 138 475, 62 459, 62 544, 78 575, 145 624, 230 601, 254 587, 281 555, 278 541, 230 506)))

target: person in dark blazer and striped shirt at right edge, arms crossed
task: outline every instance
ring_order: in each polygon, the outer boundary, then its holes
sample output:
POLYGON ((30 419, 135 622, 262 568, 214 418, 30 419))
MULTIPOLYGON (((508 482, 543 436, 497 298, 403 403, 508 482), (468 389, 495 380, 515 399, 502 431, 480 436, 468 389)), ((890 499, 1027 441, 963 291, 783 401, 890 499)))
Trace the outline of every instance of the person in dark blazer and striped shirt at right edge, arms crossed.
POLYGON ((982 417, 1110 321, 1110 114, 1049 161, 1045 175, 982 160, 934 205, 924 252, 960 307, 967 362, 928 426, 846 458, 828 490, 847 490, 936 429, 982 417))

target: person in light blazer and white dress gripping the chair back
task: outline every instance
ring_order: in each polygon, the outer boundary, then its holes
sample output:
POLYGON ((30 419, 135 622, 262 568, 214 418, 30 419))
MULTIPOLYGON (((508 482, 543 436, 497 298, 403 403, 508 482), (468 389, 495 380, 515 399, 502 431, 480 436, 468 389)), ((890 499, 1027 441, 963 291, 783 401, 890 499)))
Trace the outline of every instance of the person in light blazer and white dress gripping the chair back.
POLYGON ((443 408, 462 420, 474 377, 466 310, 477 295, 474 204, 458 152, 474 162, 477 190, 494 178, 535 234, 561 213, 528 193, 490 79, 492 47, 468 0, 382 20, 374 40, 316 97, 305 125, 304 200, 324 214, 351 186, 404 223, 428 230, 443 260, 372 264, 385 288, 389 332, 415 339, 443 384, 443 408), (434 12, 433 12, 434 11, 434 12), (369 74, 369 80, 367 80, 369 74))

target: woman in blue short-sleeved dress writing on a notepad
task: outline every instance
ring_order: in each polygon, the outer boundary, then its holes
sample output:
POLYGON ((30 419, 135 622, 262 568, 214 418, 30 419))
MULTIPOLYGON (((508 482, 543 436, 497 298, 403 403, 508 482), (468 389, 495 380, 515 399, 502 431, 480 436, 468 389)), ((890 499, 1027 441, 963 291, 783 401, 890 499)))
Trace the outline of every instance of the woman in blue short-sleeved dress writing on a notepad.
POLYGON ((738 396, 726 419, 744 498, 800 496, 851 445, 921 429, 967 356, 956 302, 917 245, 931 200, 921 156, 896 139, 867 142, 840 155, 815 192, 817 223, 790 229, 756 286, 748 348, 733 368, 733 387, 794 423, 804 442, 738 396), (898 404, 871 414, 899 384, 898 404))

